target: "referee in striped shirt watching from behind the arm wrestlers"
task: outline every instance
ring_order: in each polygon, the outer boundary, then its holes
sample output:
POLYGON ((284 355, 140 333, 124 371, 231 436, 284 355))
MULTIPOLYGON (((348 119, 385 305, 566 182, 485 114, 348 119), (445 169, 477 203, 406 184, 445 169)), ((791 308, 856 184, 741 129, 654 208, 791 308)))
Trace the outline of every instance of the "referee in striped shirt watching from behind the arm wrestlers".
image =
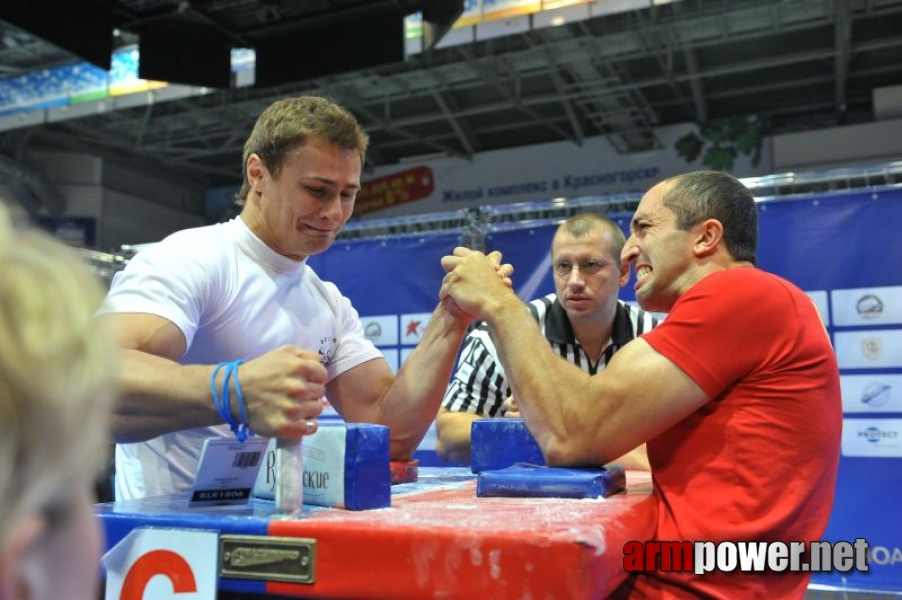
MULTIPOLYGON (((589 374, 603 370, 624 344, 658 324, 651 314, 617 299, 629 279, 629 267, 620 261, 625 242, 620 227, 605 216, 571 217, 551 242, 556 293, 527 305, 551 347, 589 374)), ((519 416, 488 326, 480 323, 464 340, 445 392, 436 451, 443 460, 469 464, 473 421, 519 416)), ((644 446, 614 462, 649 468, 644 446)))

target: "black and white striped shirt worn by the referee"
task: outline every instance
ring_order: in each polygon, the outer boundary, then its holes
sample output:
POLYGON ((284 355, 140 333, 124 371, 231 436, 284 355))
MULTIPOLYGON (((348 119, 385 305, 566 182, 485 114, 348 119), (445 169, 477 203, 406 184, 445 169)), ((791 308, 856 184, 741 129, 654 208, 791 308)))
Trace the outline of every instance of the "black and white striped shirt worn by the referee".
MULTIPOLYGON (((641 308, 618 300, 611 339, 598 362, 576 341, 573 328, 556 294, 548 294, 528 304, 542 335, 560 356, 583 371, 594 375, 604 370, 608 361, 624 344, 650 331, 658 319, 641 308)), ((501 416, 501 404, 511 395, 510 385, 498 360, 498 351, 489 337, 488 326, 480 323, 467 335, 457 371, 445 391, 442 405, 451 412, 468 412, 487 417, 501 416)))

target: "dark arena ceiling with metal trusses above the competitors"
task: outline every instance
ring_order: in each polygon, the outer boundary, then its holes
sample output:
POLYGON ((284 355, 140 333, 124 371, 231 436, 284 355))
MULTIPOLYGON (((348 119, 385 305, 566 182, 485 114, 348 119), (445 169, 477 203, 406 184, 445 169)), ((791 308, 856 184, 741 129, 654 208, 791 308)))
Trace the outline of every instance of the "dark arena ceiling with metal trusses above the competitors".
MULTIPOLYGON (((10 1, 32 13, 44 4, 10 1)), ((173 40, 191 40, 196 51, 207 42, 221 48, 277 40, 265 49, 268 56, 290 60, 269 69, 267 85, 7 123, 0 154, 86 152, 215 187, 239 181, 242 144, 255 118, 288 95, 326 95, 348 107, 371 135, 367 165, 375 167, 543 142, 578 145, 597 135, 629 154, 659 147, 656 126, 734 116, 757 116, 766 134, 868 122, 875 118, 874 90, 902 83, 902 0, 646 2, 647 8, 557 26, 538 18, 525 29, 499 25, 470 43, 449 43, 460 35, 454 29, 436 47, 406 58, 383 54, 371 29, 430 2, 439 0, 86 2, 105 11, 125 41, 144 37, 180 48, 173 40), (315 52, 293 52, 291 40, 305 32, 315 52), (353 68, 311 77, 295 68, 322 66, 333 55, 353 68), (358 67, 355 60, 376 64, 358 67)), ((41 37, 22 26, 21 14, 4 11, 0 77, 84 60, 71 51, 72 40, 63 49, 49 39, 53 32, 41 37)), ((439 19, 439 35, 441 25, 439 19)))

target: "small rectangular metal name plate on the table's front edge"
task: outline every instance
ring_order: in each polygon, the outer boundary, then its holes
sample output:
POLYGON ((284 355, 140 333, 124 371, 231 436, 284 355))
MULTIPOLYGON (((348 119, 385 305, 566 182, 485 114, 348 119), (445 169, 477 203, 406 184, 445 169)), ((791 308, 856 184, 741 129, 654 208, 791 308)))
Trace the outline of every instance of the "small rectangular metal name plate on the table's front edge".
POLYGON ((219 574, 258 581, 315 581, 316 540, 312 538, 222 535, 219 574))

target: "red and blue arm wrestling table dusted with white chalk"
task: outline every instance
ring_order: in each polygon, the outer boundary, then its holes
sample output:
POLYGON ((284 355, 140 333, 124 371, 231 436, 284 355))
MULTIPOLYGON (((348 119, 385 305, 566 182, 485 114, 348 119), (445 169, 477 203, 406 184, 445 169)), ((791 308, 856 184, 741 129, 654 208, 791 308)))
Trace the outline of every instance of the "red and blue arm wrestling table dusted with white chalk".
POLYGON ((246 598, 603 598, 626 578, 623 545, 652 539, 656 519, 638 471, 624 493, 575 500, 477 498, 469 469, 425 467, 392 486, 389 508, 305 506, 294 519, 263 500, 189 508, 187 496, 98 504, 107 549, 135 528, 216 531, 218 589, 246 598), (285 538, 307 540, 306 583, 226 560, 285 538))

